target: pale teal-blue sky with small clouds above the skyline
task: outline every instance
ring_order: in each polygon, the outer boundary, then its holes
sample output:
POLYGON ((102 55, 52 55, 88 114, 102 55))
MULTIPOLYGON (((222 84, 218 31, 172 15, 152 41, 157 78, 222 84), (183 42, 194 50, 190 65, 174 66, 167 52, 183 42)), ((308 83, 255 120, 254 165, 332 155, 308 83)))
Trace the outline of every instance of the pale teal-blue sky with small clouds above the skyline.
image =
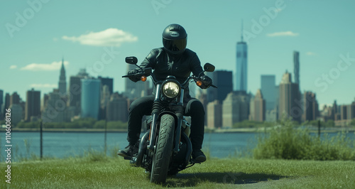
POLYGON ((126 56, 138 60, 162 46, 170 23, 187 31, 187 48, 202 63, 235 71, 236 42, 248 43, 248 89, 261 75, 293 72, 300 52, 300 88, 320 104, 350 104, 355 97, 355 1, 1 1, 0 89, 34 88, 41 95, 58 87, 65 58, 67 82, 86 68, 90 75, 114 78, 124 90, 126 56))

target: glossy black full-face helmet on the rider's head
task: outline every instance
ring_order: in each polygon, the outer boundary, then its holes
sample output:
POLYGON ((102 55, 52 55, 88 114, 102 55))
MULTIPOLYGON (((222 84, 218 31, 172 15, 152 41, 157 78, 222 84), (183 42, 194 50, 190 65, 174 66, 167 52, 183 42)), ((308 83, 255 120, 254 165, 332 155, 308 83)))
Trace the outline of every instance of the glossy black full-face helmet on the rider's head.
POLYGON ((186 49, 187 33, 182 26, 173 23, 163 31, 163 45, 168 53, 178 55, 186 49))

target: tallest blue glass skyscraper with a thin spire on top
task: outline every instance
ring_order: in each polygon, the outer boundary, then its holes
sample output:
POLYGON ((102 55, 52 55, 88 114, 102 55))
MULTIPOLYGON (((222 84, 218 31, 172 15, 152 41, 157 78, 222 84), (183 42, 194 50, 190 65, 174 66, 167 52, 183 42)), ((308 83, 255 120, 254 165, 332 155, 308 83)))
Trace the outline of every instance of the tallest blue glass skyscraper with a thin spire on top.
MULTIPOLYGON (((243 28, 241 29, 243 31, 243 28)), ((241 33, 241 41, 236 43, 236 77, 235 77, 235 90, 247 91, 247 45, 243 41, 243 33, 241 33)))

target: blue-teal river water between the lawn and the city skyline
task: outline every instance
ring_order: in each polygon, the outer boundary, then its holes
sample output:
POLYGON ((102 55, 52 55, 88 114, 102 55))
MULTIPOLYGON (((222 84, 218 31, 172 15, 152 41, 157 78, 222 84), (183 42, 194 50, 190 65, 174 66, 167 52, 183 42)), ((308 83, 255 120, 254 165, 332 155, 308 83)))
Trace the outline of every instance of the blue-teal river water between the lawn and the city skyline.
MULTIPOLYGON (((205 153, 216 158, 246 156, 256 146, 258 135, 260 133, 206 133, 202 148, 205 153)), ((128 144, 126 136, 126 132, 107 133, 107 153, 126 147, 128 144)), ((354 132, 347 136, 355 139, 354 132)), ((1 159, 4 159, 5 133, 0 133, 0 141, 1 159)), ((31 154, 40 156, 39 132, 13 131, 11 144, 13 158, 28 157, 31 154)), ((43 156, 57 158, 80 156, 90 149, 104 153, 104 132, 43 132, 43 156)))

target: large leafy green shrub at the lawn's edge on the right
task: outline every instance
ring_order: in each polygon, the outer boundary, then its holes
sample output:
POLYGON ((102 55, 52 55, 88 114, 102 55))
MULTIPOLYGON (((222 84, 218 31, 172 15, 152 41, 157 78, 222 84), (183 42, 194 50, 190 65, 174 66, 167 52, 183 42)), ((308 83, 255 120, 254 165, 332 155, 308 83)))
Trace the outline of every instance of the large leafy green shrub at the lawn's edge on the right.
POLYGON ((311 136, 307 129, 296 128, 290 119, 283 119, 279 126, 258 137, 253 157, 355 161, 355 142, 351 142, 344 133, 332 138, 326 134, 322 139, 311 136))

